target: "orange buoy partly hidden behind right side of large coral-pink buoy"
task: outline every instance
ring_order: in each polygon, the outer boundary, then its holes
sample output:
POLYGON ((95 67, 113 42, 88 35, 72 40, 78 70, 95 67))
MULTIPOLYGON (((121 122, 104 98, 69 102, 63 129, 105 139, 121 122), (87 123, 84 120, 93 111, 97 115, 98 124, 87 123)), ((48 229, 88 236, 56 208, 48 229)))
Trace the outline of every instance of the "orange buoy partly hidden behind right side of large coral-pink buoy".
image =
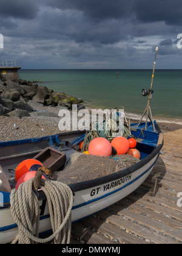
POLYGON ((116 149, 118 155, 124 155, 129 151, 129 141, 124 137, 116 137, 111 146, 116 149))

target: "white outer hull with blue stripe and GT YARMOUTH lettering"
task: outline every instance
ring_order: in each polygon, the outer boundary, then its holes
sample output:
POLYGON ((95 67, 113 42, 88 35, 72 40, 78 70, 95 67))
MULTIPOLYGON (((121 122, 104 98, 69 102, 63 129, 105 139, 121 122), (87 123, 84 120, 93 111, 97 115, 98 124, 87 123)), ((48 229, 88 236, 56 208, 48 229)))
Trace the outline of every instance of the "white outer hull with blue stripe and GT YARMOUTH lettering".
MULTIPOLYGON (((149 176, 158 155, 127 176, 86 190, 76 191, 72 208, 72 222, 99 212, 135 191, 149 176)), ((0 195, 2 196, 2 193, 0 195)), ((39 232, 42 233, 51 230, 52 227, 47 203, 39 201, 39 204, 41 208, 39 232)), ((10 208, 3 208, 0 210, 0 243, 10 243, 16 235, 18 235, 18 227, 12 217, 10 208)))

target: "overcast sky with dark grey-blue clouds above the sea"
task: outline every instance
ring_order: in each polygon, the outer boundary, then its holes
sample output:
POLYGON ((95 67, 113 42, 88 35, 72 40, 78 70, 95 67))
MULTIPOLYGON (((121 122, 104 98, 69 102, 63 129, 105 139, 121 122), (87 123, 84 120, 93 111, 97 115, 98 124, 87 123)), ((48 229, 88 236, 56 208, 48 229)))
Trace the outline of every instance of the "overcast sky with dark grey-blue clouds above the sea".
POLYGON ((1 0, 0 34, 23 69, 182 68, 181 0, 1 0))

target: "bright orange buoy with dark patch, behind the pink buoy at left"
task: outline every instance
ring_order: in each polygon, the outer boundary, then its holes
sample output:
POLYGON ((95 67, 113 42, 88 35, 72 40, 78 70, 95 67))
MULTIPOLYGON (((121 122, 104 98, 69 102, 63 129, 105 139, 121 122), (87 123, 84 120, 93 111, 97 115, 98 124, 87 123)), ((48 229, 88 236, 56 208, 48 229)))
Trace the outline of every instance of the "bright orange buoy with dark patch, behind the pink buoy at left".
POLYGON ((19 178, 29 171, 38 171, 40 167, 42 167, 42 163, 36 159, 27 159, 21 162, 15 171, 15 179, 18 182, 19 178))

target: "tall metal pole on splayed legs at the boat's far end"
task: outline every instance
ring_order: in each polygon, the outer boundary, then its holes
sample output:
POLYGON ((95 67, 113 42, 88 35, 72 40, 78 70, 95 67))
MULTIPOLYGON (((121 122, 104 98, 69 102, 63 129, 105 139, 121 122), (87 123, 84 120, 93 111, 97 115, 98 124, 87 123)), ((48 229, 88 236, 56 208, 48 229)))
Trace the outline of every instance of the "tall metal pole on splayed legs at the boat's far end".
MULTIPOLYGON (((147 107, 146 107, 143 115, 141 116, 140 123, 138 123, 138 126, 140 126, 141 121, 143 120, 144 115, 146 115, 146 112, 147 112, 145 129, 147 129, 147 120, 149 118, 150 122, 152 123, 154 132, 155 132, 155 125, 153 123, 152 111, 151 111, 151 108, 150 108, 150 101, 152 99, 152 94, 153 94, 152 88, 153 88, 153 78, 154 78, 154 74, 155 74, 155 64, 156 64, 156 60, 157 60, 157 52, 158 52, 158 47, 155 49, 155 61, 154 61, 154 64, 153 64, 152 81, 151 81, 150 90, 149 90, 149 97, 148 97, 148 101, 147 101, 147 107)), ((143 95, 143 96, 146 96, 146 95, 143 95)))

